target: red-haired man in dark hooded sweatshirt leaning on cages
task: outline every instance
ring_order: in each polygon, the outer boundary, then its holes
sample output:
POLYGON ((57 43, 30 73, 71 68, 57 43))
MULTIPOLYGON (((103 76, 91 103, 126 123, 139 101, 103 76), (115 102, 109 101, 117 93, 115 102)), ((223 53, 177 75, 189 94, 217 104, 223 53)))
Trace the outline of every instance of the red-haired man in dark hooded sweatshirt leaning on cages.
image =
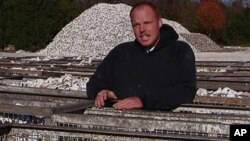
POLYGON ((136 40, 118 45, 104 58, 87 84, 95 106, 116 101, 115 109, 171 110, 192 102, 196 93, 195 57, 178 34, 163 25, 155 5, 130 11, 136 40))

